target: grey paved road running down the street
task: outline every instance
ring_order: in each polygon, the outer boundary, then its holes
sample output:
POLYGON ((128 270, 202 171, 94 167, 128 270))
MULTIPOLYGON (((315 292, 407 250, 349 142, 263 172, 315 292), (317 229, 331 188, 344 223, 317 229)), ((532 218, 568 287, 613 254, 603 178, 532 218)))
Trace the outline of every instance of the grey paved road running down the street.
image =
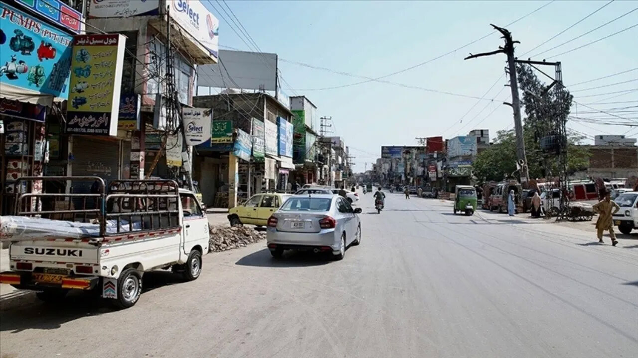
MULTIPOLYGON (((263 243, 145 276, 124 311, 89 297, 0 311, 1 357, 638 357, 638 235, 389 194, 339 262, 263 243)), ((15 301, 15 300, 14 300, 15 301)))

